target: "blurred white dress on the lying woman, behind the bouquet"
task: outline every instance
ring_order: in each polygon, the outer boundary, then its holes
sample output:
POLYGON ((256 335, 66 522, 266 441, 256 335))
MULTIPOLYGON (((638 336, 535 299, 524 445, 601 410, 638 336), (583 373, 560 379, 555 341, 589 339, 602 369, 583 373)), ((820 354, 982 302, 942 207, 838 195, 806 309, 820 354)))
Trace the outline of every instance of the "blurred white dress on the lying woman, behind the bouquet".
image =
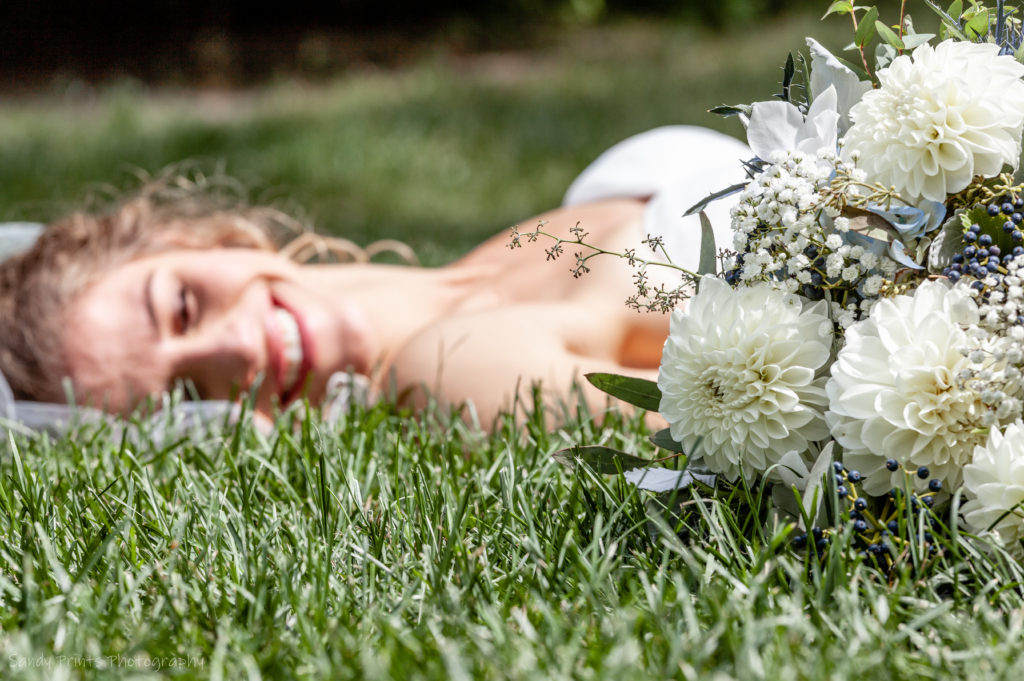
MULTIPOLYGON (((683 213, 705 197, 745 181, 741 162, 753 156, 739 140, 714 130, 687 125, 654 128, 599 156, 569 185, 562 205, 649 197, 642 237, 660 237, 673 263, 696 271, 700 218, 683 213)), ((731 205, 723 199, 705 209, 719 249, 732 248, 731 205)))

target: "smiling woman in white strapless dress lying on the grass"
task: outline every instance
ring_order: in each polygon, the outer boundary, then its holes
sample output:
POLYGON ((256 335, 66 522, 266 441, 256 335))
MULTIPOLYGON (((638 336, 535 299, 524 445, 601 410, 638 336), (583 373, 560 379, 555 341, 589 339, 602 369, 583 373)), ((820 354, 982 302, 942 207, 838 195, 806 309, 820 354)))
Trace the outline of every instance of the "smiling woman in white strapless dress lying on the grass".
MULTIPOLYGON (((732 171, 744 154, 705 130, 651 131, 606 153, 565 206, 524 224, 565 239, 579 224, 594 246, 634 249, 655 204, 676 221, 687 202, 740 179, 716 174, 709 158, 732 171), (676 202, 658 203, 665 185, 676 202)), ((79 403, 126 414, 183 382, 203 399, 252 392, 270 413, 324 400, 341 373, 416 407, 428 395, 471 403, 486 425, 538 381, 564 398, 584 373, 656 374, 668 317, 623 304, 636 289, 621 263, 573 279, 546 262, 550 244, 522 240, 510 252, 500 235, 439 268, 297 264, 274 248, 278 221, 148 190, 49 226, 0 264, 0 372, 13 396, 62 401, 68 378, 79 403)), ((727 217, 716 222, 728 245, 727 217)), ((699 228, 672 226, 674 259, 694 267, 699 228)))

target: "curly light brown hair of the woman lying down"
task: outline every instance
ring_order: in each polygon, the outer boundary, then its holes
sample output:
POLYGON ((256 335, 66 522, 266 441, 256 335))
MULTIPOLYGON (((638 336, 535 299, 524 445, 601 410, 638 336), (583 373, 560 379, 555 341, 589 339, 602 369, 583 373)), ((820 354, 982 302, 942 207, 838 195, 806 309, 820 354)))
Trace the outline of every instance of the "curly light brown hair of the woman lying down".
POLYGON ((0 372, 15 398, 65 400, 61 330, 70 306, 102 272, 169 250, 276 250, 302 229, 279 210, 210 188, 206 178, 148 181, 110 209, 48 225, 32 249, 0 263, 0 372))

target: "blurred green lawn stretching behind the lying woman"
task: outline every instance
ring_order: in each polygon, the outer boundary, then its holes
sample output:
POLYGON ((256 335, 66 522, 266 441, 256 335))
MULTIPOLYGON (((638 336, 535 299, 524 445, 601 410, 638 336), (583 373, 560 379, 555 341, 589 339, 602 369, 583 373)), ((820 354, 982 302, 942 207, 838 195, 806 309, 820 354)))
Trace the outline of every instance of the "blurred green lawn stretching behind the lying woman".
POLYGON ((0 219, 48 220, 97 186, 198 161, 324 231, 393 237, 430 264, 554 208, 599 153, 669 124, 741 134, 711 107, 768 98, 787 51, 846 23, 795 15, 716 35, 673 24, 547 34, 516 52, 230 94, 130 83, 0 100, 0 219))

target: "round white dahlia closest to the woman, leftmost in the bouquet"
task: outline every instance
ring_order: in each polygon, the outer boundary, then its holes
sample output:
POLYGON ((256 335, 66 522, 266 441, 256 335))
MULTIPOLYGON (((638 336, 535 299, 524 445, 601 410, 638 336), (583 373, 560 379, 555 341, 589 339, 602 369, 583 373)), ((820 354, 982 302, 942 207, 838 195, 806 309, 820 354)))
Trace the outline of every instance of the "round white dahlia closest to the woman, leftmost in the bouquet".
POLYGON ((672 436, 730 479, 826 437, 818 373, 831 345, 827 321, 823 302, 706 276, 686 311, 672 313, 662 355, 659 411, 672 436))

